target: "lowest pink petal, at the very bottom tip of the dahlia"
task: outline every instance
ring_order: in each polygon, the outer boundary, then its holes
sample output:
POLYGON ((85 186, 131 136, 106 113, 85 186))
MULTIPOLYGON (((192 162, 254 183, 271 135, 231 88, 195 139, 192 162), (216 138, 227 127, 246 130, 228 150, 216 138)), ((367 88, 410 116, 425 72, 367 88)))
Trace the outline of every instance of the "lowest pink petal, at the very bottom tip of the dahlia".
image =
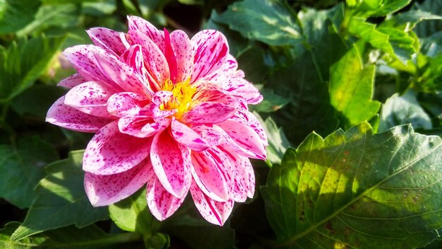
POLYGON ((191 185, 191 194, 196 208, 205 220, 219 226, 225 224, 230 213, 232 213, 234 204, 232 199, 229 199, 227 202, 217 202, 210 199, 199 189, 196 183, 191 185))

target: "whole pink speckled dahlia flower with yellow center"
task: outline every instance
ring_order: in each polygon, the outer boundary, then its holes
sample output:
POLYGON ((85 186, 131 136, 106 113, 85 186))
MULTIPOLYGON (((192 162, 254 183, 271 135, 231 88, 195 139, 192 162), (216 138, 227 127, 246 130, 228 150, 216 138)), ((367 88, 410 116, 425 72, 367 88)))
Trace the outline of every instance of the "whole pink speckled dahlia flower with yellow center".
POLYGON ((265 159, 267 139, 247 108, 262 100, 244 79, 216 30, 192 39, 129 17, 129 32, 92 28, 94 45, 64 51, 78 73, 52 105, 47 122, 96 132, 83 157, 94 206, 118 202, 147 185, 159 220, 187 192, 201 215, 222 225, 234 202, 253 197, 249 158, 265 159))

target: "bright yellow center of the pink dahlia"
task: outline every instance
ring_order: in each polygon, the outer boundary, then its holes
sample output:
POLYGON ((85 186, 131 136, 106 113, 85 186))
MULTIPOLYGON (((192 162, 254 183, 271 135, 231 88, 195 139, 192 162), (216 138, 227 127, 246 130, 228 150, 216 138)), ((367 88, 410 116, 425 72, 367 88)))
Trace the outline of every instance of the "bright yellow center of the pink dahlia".
POLYGON ((170 91, 173 95, 169 101, 160 105, 160 110, 176 109, 177 112, 174 114, 174 117, 177 119, 181 118, 185 112, 190 110, 192 105, 192 97, 196 92, 196 88, 191 86, 190 81, 191 79, 189 78, 186 81, 173 83, 170 79, 167 79, 162 86, 162 90, 170 91))

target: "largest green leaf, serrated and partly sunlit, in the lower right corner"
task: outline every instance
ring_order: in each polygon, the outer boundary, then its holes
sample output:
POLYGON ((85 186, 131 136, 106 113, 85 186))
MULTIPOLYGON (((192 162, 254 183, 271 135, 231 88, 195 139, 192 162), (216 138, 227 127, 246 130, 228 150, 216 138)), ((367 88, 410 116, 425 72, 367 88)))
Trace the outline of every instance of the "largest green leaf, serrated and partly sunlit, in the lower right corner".
POLYGON ((277 245, 417 248, 442 227, 442 140, 362 123, 287 150, 261 188, 277 245))

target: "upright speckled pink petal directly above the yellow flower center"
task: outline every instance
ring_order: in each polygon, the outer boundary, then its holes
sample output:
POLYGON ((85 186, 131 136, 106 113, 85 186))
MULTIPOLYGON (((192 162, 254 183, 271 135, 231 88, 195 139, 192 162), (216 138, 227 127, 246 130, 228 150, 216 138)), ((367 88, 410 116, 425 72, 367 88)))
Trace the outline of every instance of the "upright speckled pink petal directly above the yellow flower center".
POLYGON ((175 30, 170 34, 172 48, 177 59, 176 82, 186 81, 193 71, 192 44, 189 37, 181 30, 175 30))

